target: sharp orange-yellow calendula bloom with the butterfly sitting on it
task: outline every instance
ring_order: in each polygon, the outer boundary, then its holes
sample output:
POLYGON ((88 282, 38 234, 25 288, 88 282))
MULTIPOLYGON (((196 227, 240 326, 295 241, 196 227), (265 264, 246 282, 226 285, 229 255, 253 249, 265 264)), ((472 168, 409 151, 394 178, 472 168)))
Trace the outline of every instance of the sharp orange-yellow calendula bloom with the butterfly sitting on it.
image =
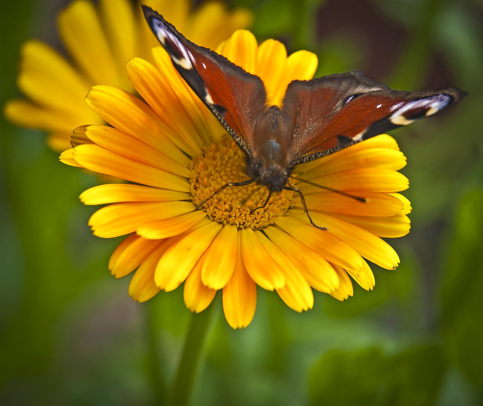
MULTIPOLYGON (((270 100, 280 104, 292 80, 312 78, 317 58, 307 51, 287 57, 268 40, 257 45, 237 31, 217 49, 262 78, 270 100)), ((73 134, 61 160, 116 176, 132 184, 103 184, 81 200, 105 204, 89 220, 95 235, 127 235, 109 269, 116 277, 134 273, 129 294, 140 302, 184 282, 184 302, 203 311, 222 290, 226 319, 247 326, 255 312, 256 285, 276 290, 293 310, 313 307, 313 290, 344 300, 353 294, 351 278, 364 289, 375 280, 366 260, 386 269, 399 263, 380 237, 405 235, 408 187, 397 172, 405 157, 393 138, 380 135, 295 168, 295 175, 325 187, 368 199, 362 203, 307 183, 303 191, 311 226, 298 195, 272 195, 257 184, 229 187, 203 207, 213 191, 247 179, 244 156, 233 139, 179 77, 164 50, 153 50, 155 65, 134 58, 129 79, 144 101, 114 87, 95 86, 87 96, 93 112, 112 127, 90 125, 73 134)))

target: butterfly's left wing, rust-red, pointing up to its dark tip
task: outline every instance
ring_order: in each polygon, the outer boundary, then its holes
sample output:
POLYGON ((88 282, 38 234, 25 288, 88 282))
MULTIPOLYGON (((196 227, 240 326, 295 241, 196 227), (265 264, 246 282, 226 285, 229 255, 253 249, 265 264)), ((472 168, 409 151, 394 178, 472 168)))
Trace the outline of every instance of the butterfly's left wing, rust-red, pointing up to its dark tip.
POLYGON ((267 100, 262 80, 227 58, 193 44, 156 11, 141 7, 146 21, 181 77, 240 149, 252 156, 254 123, 256 117, 263 114, 267 100))

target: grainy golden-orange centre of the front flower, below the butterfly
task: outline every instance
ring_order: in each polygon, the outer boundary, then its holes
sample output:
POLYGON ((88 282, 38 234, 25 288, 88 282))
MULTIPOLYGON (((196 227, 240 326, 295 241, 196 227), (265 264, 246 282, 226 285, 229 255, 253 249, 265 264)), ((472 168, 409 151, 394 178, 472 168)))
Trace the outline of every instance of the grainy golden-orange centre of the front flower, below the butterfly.
MULTIPOLYGON (((247 180, 244 166, 243 153, 228 136, 206 146, 203 153, 191 161, 191 192, 195 204, 200 204, 228 182, 247 180)), ((294 196, 291 191, 273 193, 263 209, 254 210, 264 205, 268 194, 269 190, 265 186, 255 183, 229 187, 208 200, 203 209, 212 220, 219 223, 261 229, 284 215, 294 196)))

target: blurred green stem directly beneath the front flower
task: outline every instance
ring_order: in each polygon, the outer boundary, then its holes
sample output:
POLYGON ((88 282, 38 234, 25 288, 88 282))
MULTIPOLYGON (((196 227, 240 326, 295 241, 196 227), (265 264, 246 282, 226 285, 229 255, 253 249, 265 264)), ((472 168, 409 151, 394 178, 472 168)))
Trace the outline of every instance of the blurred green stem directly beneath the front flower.
POLYGON ((215 303, 212 303, 203 312, 192 315, 191 325, 184 341, 183 353, 171 392, 170 404, 173 406, 186 406, 190 401, 196 370, 208 335, 208 327, 215 305, 215 303))

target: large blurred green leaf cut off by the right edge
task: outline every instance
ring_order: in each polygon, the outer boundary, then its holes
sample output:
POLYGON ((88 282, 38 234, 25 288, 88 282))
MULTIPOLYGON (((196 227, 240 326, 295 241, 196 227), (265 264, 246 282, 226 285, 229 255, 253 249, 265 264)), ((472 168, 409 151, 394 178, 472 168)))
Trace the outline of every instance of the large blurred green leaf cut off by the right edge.
POLYGON ((444 349, 480 390, 483 390, 482 207, 483 190, 470 192, 463 198, 442 286, 444 349))

